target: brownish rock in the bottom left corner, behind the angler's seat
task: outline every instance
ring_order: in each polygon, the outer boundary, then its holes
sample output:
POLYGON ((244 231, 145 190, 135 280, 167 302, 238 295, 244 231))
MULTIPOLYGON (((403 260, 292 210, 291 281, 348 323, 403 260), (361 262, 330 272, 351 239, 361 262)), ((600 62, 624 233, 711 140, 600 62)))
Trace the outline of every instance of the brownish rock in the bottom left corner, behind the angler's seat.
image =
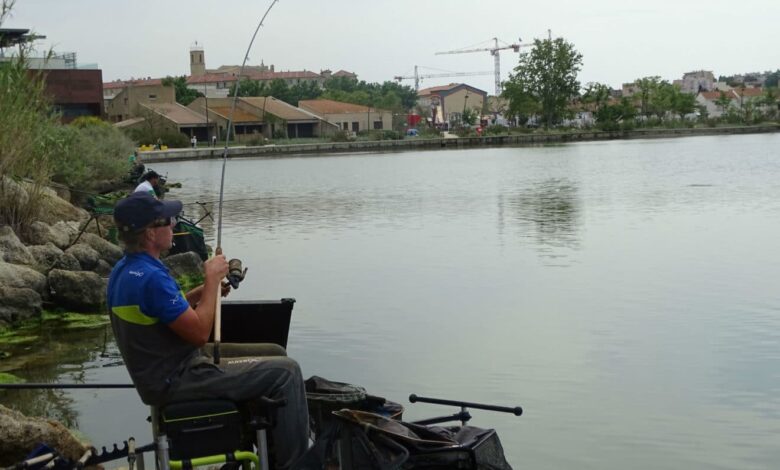
POLYGON ((41 442, 73 461, 87 450, 62 424, 30 418, 0 405, 0 467, 21 462, 41 442))

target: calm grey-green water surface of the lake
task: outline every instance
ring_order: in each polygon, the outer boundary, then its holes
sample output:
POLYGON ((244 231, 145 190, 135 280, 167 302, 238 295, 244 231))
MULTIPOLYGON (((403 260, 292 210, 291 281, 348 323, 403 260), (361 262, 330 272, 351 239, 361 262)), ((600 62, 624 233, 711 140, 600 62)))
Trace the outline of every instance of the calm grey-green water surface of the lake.
MULTIPOLYGON (((152 166, 192 203, 220 164, 152 166)), ((225 199, 233 298, 298 300, 305 376, 522 405, 472 421, 516 468, 780 462, 780 135, 233 160, 225 199)), ((98 349, 59 380, 125 381, 98 349)), ((148 435, 134 392, 59 398, 148 435)))

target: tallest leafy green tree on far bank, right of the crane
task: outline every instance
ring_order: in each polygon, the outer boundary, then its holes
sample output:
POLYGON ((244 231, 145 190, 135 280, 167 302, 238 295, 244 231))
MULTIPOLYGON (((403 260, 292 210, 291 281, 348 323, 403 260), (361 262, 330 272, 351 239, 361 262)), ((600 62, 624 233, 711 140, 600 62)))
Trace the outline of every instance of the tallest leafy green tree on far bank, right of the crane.
POLYGON ((549 128, 563 119, 569 102, 578 96, 581 66, 582 54, 572 43, 562 38, 536 39, 531 52, 520 55, 503 96, 520 101, 523 111, 536 107, 549 128), (532 106, 532 101, 537 106, 532 106))

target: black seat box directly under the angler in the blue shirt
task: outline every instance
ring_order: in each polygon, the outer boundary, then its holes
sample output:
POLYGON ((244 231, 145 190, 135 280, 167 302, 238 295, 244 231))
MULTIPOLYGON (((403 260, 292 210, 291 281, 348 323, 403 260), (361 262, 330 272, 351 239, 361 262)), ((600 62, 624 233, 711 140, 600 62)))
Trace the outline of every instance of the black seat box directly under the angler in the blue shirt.
POLYGON ((162 409, 160 418, 173 460, 225 454, 241 448, 241 413, 231 401, 173 403, 162 409))

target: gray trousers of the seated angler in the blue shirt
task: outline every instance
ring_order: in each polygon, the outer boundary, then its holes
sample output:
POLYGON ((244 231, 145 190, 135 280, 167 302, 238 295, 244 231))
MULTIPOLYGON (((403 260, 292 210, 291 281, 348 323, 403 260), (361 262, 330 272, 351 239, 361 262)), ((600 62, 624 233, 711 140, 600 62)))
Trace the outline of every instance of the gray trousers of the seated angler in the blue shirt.
MULTIPOLYGON (((207 345, 205 352, 213 351, 207 345)), ((276 466, 289 468, 308 448, 309 412, 298 363, 274 344, 220 345, 220 364, 203 355, 190 361, 168 391, 166 402, 223 398, 247 402, 261 396, 287 398, 271 430, 276 466)))

